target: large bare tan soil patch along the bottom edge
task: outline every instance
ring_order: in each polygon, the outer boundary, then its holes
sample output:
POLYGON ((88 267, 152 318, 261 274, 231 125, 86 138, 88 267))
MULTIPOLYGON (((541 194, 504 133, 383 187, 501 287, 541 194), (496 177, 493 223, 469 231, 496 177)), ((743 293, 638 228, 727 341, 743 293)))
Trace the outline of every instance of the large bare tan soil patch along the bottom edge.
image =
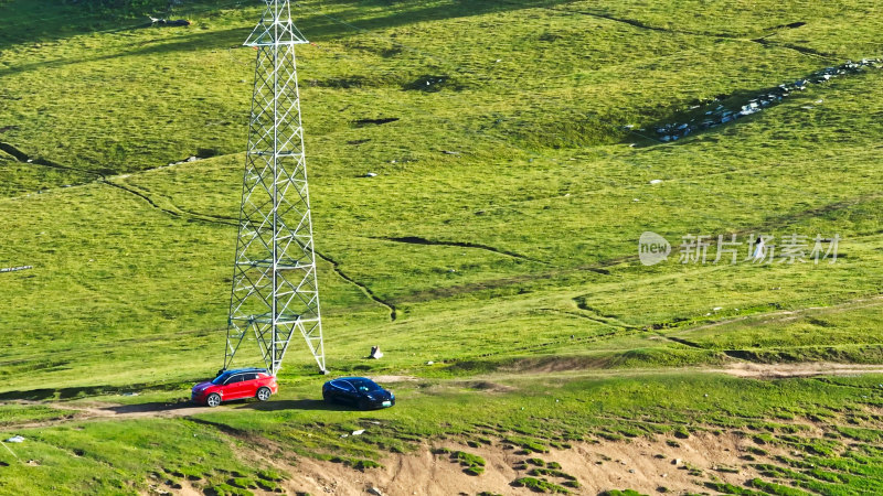
MULTIPOLYGON (((514 487, 512 482, 529 476, 535 468, 523 461, 531 457, 546 464, 557 462, 561 471, 576 477, 579 488, 568 488, 573 494, 597 495, 608 489, 631 488, 645 494, 657 494, 666 487, 675 494, 709 490, 702 484, 711 476, 721 482, 742 485, 759 476, 751 463, 775 463, 773 456, 786 454, 765 446, 766 456, 756 455, 748 462, 745 449, 751 441, 732 433, 701 432, 678 440, 679 446, 669 445, 664 439, 634 439, 604 441, 598 444, 575 443, 570 450, 552 449, 543 454, 523 454, 500 441, 492 445, 470 448, 457 442, 424 444, 414 453, 391 454, 383 460, 382 468, 364 472, 342 464, 300 459, 291 467, 291 489, 310 494, 364 495, 376 487, 384 495, 456 495, 477 494, 482 490, 507 495, 534 494, 525 487, 514 487), (485 473, 468 475, 462 466, 449 456, 433 453, 434 449, 448 448, 481 456, 485 473), (678 460, 678 464, 673 462, 678 460)), ((561 485, 565 479, 545 478, 561 485)))

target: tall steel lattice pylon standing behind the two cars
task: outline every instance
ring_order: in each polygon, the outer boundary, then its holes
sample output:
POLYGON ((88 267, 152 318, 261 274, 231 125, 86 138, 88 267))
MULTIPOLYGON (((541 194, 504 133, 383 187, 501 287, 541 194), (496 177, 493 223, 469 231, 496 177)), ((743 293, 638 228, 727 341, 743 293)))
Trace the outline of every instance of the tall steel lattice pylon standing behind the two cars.
POLYGON ((319 287, 300 122, 295 45, 307 43, 288 0, 267 10, 245 46, 257 51, 224 368, 254 333, 274 376, 296 334, 325 373, 319 287))

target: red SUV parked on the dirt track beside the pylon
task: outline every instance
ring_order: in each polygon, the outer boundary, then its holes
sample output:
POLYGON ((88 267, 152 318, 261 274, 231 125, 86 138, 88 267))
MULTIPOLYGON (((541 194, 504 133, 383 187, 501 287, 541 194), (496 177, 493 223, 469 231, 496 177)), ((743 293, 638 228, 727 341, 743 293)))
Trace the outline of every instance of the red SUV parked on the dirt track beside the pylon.
POLYGON ((269 399, 279 390, 276 377, 264 368, 237 368, 224 370, 213 380, 193 386, 191 399, 198 403, 217 407, 221 401, 243 398, 269 399))

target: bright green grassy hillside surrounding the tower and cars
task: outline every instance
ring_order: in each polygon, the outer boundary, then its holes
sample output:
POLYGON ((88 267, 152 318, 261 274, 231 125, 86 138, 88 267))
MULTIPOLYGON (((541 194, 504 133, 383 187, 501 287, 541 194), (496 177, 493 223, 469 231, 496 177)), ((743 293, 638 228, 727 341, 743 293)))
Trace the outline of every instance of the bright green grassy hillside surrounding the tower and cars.
POLYGON ((241 44, 260 2, 184 2, 169 15, 183 29, 139 13, 0 1, 0 268, 33 266, 0 273, 0 433, 30 440, 0 450, 0 492, 270 487, 236 454, 262 443, 364 466, 425 439, 679 425, 800 453, 764 468, 800 490, 780 494, 883 488, 881 377, 696 373, 883 363, 883 71, 651 139, 715 97, 882 56, 883 8, 860 0, 302 2, 328 366, 417 380, 387 411, 320 409, 322 378, 292 345, 272 409, 15 430, 64 417, 56 401, 174 402, 221 365, 254 72, 241 44), (646 230, 668 261, 639 262, 646 230), (839 235, 838 260, 679 263, 684 235, 759 233, 839 235), (363 358, 372 345, 382 360, 363 358), (813 417, 829 436, 769 423, 813 417), (382 427, 339 438, 365 419, 382 427))

